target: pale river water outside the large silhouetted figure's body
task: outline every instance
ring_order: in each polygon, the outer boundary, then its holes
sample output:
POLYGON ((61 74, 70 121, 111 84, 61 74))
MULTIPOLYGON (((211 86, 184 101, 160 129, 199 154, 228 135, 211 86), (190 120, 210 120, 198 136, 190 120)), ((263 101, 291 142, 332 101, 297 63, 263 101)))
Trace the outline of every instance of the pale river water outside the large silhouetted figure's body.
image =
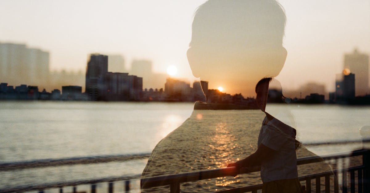
MULTIPOLYGON (((0 163, 150 153, 159 140, 191 116, 193 106, 162 102, 0 101, 0 163)), ((361 140, 359 128, 370 125, 369 106, 269 104, 266 109, 295 127, 304 144, 361 140)), ((203 116, 208 113, 212 111, 203 111, 203 116)), ((360 146, 355 143, 307 148, 323 155, 360 146)), ((146 159, 138 159, 0 171, 0 189, 137 175, 146 163, 146 159)))

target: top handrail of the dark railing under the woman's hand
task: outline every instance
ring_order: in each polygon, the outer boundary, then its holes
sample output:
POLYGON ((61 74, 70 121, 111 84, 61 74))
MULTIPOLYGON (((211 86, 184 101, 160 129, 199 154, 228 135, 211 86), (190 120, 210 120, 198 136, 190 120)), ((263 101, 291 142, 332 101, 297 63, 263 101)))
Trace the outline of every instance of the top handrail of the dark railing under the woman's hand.
MULTIPOLYGON (((367 151, 369 150, 360 149, 360 150, 354 150, 353 152, 333 153, 333 154, 324 155, 324 156, 308 156, 308 157, 298 158, 297 165, 322 162, 324 160, 330 160, 330 159, 336 159, 336 158, 359 156, 359 155, 363 155, 367 151)), ((184 183, 184 182, 191 182, 191 181, 196 181, 196 180, 205 180, 205 179, 211 179, 215 177, 236 176, 238 174, 252 173, 252 172, 258 172, 258 171, 259 171, 258 167, 254 167, 253 169, 242 168, 240 170, 237 170, 236 167, 225 167, 225 168, 220 168, 220 169, 202 170, 202 171, 197 171, 197 172, 178 173, 178 174, 165 175, 165 176, 142 178, 141 184, 142 184, 142 188, 149 188, 149 187, 170 185, 173 183, 184 183)))

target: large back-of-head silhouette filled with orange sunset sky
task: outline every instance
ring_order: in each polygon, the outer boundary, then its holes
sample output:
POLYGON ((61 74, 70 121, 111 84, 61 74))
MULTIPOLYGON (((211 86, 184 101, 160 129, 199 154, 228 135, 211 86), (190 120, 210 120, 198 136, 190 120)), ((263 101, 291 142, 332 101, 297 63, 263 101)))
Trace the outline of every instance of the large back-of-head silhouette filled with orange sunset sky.
POLYGON ((275 0, 209 0, 195 13, 188 61, 195 77, 230 94, 255 95, 281 71, 285 13, 275 0))

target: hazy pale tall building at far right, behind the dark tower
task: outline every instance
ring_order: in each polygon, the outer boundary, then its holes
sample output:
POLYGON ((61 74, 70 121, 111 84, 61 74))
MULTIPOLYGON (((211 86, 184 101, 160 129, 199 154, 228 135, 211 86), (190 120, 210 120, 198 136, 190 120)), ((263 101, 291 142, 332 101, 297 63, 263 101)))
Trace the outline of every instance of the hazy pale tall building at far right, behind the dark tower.
POLYGON ((369 94, 369 55, 355 49, 351 54, 344 55, 344 69, 356 74, 356 96, 369 94))

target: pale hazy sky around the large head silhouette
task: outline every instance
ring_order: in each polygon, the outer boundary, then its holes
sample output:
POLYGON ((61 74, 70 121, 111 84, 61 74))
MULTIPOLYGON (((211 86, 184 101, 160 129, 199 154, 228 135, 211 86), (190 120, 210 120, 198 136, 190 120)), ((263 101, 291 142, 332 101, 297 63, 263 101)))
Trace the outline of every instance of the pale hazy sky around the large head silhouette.
MULTIPOLYGON (((51 70, 84 70, 90 53, 153 61, 154 70, 178 68, 193 79, 186 59, 194 10, 205 0, 1 0, 0 42, 50 52, 51 70)), ((283 88, 308 81, 334 89, 343 55, 370 54, 369 0, 280 0, 286 10, 283 88)), ((224 88, 227 92, 227 88, 224 88)))

